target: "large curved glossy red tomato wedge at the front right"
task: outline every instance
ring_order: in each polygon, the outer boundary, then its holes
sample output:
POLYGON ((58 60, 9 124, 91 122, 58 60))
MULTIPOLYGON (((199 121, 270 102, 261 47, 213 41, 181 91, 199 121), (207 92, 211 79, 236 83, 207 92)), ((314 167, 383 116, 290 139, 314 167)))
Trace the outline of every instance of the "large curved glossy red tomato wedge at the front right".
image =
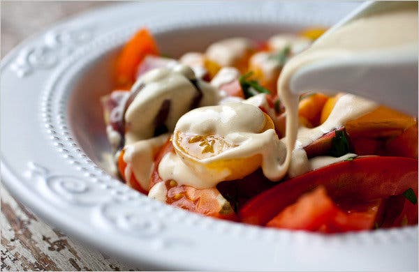
POLYGON ((337 203, 339 199, 353 199, 353 203, 385 199, 409 188, 418 195, 418 160, 371 156, 335 163, 257 195, 240 209, 239 217, 249 224, 265 225, 302 194, 320 185, 337 203))

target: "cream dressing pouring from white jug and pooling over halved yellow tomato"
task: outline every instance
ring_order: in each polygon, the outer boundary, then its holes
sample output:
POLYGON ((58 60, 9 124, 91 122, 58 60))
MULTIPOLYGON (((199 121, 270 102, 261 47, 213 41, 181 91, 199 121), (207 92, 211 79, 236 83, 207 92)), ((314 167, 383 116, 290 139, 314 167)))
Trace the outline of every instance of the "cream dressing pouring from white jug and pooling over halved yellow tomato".
MULTIPOLYGON (((239 116, 239 119, 246 120, 248 124, 260 121, 254 110, 250 108, 241 110, 242 107, 245 107, 244 103, 216 106, 217 108, 212 107, 210 111, 207 108, 195 109, 179 119, 175 132, 207 135, 208 128, 211 127, 212 133, 220 133, 222 137, 237 144, 237 147, 210 158, 204 158, 200 160, 200 163, 210 164, 217 160, 245 158, 259 153, 263 156, 263 173, 272 181, 281 180, 288 170, 290 171, 288 174, 294 176, 355 156, 348 154, 341 158, 321 157, 308 160, 302 147, 314 142, 315 139, 330 130, 339 128, 347 121, 371 112, 378 105, 372 101, 346 94, 339 98, 327 121, 321 126, 298 128, 299 94, 293 93, 290 89, 291 77, 297 70, 314 61, 351 57, 359 52, 368 54, 377 50, 394 51, 395 48, 411 48, 411 45, 417 44, 418 31, 412 31, 410 27, 416 26, 417 28, 417 22, 418 13, 414 9, 395 10, 391 13, 363 17, 328 33, 308 50, 288 61, 277 83, 279 96, 286 107, 287 114, 286 137, 284 139, 279 140, 272 129, 260 132, 249 130, 245 126, 242 128, 242 123, 238 125, 233 123, 232 119, 235 114, 239 116), (208 112, 211 111, 215 113, 209 114, 208 112), (228 126, 226 126, 227 121, 228 126), (192 124, 198 125, 193 126, 192 124)), ((205 179, 200 179, 203 174, 193 171, 194 167, 183 165, 182 161, 185 161, 184 158, 178 155, 166 155, 159 165, 159 174, 164 176, 164 179, 175 179, 178 183, 190 184, 196 188, 214 187, 216 183, 222 181, 223 175, 228 174, 225 169, 221 169, 220 175, 210 175, 205 179), (169 165, 179 165, 182 169, 173 171, 174 168, 169 165), (177 174, 180 172, 182 174, 177 174), (193 184, 191 184, 191 179, 193 184)))

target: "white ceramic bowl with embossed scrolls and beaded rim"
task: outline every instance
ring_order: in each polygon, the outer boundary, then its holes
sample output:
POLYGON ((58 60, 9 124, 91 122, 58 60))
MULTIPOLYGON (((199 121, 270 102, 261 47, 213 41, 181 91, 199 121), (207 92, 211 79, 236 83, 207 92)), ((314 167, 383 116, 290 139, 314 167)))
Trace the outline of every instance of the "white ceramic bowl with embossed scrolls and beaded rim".
POLYGON ((141 2, 29 38, 1 61, 1 176, 52 225, 145 269, 418 270, 418 227, 323 236, 204 218, 108 174, 98 97, 115 52, 146 25, 177 56, 226 36, 331 25, 359 3, 141 2))

